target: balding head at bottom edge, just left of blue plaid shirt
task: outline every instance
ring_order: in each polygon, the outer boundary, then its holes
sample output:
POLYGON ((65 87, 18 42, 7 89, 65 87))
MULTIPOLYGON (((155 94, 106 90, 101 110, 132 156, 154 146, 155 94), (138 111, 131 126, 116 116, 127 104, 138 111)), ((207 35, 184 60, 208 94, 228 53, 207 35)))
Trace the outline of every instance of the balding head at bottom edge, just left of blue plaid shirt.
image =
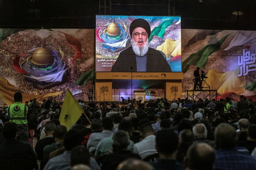
POLYGON ((215 152, 210 145, 196 143, 188 148, 185 166, 189 170, 212 170, 214 160, 215 152))

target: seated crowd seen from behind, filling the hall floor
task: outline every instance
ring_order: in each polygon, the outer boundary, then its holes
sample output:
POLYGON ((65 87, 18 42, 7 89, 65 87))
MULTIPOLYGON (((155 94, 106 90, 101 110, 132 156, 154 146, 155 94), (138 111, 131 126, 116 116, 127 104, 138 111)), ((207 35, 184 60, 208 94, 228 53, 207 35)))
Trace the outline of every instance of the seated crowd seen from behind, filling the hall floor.
POLYGON ((35 148, 1 107, 0 169, 256 169, 255 104, 243 96, 238 102, 162 98, 128 100, 122 107, 78 104, 85 114, 67 129, 59 122, 58 101, 26 102, 35 148))

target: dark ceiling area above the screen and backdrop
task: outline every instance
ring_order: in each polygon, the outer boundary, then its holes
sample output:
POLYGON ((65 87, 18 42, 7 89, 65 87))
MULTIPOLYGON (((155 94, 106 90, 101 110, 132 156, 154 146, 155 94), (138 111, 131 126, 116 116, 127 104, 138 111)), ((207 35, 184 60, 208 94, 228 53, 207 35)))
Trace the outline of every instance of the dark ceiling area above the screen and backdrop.
POLYGON ((182 28, 256 30, 255 5, 255 0, 0 0, 0 27, 94 28, 95 15, 111 14, 180 15, 182 28), (244 15, 231 17, 233 11, 244 15))

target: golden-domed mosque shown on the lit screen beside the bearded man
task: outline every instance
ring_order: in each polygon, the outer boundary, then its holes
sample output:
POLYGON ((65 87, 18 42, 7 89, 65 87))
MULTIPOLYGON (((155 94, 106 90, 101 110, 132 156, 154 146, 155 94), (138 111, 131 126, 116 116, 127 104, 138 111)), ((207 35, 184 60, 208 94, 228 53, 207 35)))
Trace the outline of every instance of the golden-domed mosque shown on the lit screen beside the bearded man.
POLYGON ((112 52, 122 51, 130 41, 126 30, 114 22, 108 23, 106 26, 107 29, 100 34, 100 38, 103 40, 102 47, 112 52))

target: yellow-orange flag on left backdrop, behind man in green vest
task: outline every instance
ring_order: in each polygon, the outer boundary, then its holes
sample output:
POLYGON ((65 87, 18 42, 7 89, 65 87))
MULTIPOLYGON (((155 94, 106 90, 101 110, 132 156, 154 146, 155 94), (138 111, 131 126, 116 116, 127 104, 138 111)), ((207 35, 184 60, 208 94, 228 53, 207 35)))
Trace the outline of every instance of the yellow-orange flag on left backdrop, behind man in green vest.
POLYGON ((56 96, 62 92, 46 93, 42 95, 34 95, 22 92, 20 89, 9 83, 5 78, 0 76, 0 99, 4 101, 6 105, 11 105, 14 102, 13 95, 16 92, 21 92, 22 102, 25 104, 25 101, 29 101, 33 98, 36 98, 37 101, 45 99, 50 96, 56 96))

